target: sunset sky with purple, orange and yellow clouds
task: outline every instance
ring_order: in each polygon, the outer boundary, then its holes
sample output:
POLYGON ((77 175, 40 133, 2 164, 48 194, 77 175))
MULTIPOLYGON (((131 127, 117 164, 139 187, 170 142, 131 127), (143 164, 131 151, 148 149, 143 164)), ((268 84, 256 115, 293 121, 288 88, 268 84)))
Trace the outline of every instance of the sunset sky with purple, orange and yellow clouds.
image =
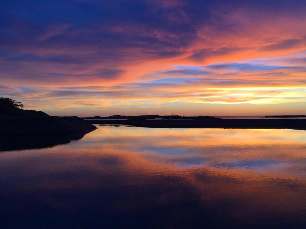
POLYGON ((306 2, 4 0, 0 97, 50 115, 306 114, 306 2))

